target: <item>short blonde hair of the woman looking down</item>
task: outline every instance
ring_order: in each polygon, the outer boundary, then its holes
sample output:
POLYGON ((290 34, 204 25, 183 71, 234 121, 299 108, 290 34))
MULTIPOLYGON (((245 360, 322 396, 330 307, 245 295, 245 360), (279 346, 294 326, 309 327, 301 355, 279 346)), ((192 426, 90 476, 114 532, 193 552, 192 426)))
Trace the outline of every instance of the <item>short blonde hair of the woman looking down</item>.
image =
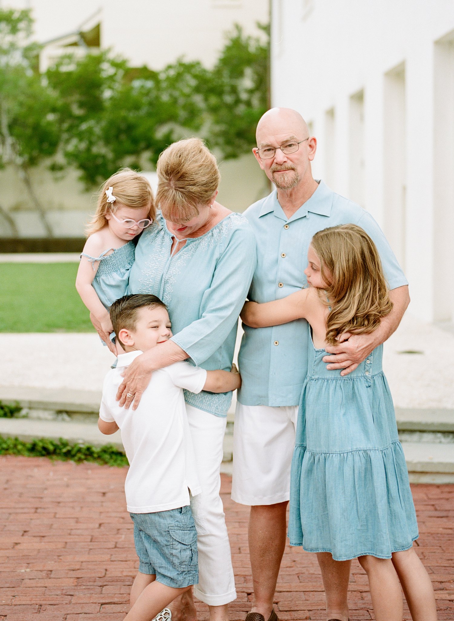
POLYGON ((221 179, 213 153, 199 138, 186 138, 167 147, 158 160, 156 204, 171 222, 187 222, 208 205, 221 179))

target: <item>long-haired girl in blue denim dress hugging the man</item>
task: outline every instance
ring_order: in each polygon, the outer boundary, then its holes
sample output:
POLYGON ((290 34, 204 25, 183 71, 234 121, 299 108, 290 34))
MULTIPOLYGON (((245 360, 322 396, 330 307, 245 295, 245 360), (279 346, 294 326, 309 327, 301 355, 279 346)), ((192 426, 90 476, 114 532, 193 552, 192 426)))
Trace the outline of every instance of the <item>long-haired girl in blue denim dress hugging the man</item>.
POLYGON ((391 311, 380 257, 363 229, 344 224, 314 235, 305 274, 308 289, 275 302, 246 302, 241 314, 254 328, 308 321, 290 543, 331 553, 339 562, 358 558, 377 621, 402 620, 401 586, 414 621, 436 620, 432 583, 412 546, 416 513, 381 369, 383 346, 345 376, 328 371, 322 360, 327 345, 373 332, 391 311))

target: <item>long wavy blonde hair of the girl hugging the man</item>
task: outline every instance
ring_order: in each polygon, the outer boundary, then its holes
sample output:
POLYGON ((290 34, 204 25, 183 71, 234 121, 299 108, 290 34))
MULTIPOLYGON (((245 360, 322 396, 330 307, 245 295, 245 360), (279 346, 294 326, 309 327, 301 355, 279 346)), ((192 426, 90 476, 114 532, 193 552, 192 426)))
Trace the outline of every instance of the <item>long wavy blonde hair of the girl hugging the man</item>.
POLYGON ((393 308, 375 243, 355 224, 319 231, 311 246, 321 263, 324 304, 331 307, 326 341, 336 345, 343 332, 370 333, 393 308))

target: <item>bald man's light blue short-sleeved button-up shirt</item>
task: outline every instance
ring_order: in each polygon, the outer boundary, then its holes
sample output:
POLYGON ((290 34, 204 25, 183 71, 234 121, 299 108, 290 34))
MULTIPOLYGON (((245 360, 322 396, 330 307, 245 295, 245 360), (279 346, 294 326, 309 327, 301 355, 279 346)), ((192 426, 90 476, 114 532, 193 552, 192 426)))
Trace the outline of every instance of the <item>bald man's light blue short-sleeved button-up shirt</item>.
MULTIPOLYGON (((389 289, 408 284, 372 215, 335 194, 323 181, 290 219, 282 211, 276 191, 251 205, 244 215, 257 240, 250 300, 270 302, 305 286, 311 238, 317 231, 338 224, 357 224, 372 237, 389 289)), ((245 406, 297 406, 308 370, 306 320, 257 329, 243 324, 243 328, 238 356, 243 380, 239 402, 245 406)))

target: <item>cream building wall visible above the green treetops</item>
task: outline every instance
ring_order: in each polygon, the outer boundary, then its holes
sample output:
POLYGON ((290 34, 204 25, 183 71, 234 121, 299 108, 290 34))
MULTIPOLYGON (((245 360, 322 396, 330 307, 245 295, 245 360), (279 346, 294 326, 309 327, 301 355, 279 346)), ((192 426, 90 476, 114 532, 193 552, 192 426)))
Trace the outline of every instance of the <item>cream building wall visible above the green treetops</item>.
POLYGON ((161 69, 176 58, 213 65, 224 33, 235 22, 258 34, 256 22, 269 22, 268 0, 6 0, 31 7, 40 42, 77 30, 101 8, 101 46, 112 47, 133 66, 161 69))

